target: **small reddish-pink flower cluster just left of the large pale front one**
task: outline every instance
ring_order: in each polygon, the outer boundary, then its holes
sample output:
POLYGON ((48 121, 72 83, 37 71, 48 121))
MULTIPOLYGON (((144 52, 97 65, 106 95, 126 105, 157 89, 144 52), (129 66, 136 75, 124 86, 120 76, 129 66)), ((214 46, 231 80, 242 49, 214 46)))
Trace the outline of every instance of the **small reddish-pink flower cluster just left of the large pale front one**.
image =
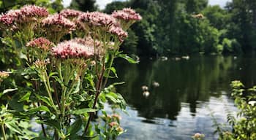
POLYGON ((50 42, 48 39, 45 39, 43 37, 39 37, 37 39, 34 39, 26 44, 27 47, 37 47, 39 49, 48 51, 50 50, 50 47, 53 46, 53 43, 50 42))

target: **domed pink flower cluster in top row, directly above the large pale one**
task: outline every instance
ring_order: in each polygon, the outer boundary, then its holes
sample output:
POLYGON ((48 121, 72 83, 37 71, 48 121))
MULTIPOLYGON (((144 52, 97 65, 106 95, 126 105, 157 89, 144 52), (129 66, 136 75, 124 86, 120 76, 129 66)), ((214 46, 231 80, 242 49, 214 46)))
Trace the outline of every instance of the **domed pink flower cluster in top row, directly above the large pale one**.
POLYGON ((75 29, 75 23, 59 14, 49 15, 48 18, 42 20, 42 26, 45 28, 51 27, 53 31, 62 31, 63 29, 72 31, 75 29))

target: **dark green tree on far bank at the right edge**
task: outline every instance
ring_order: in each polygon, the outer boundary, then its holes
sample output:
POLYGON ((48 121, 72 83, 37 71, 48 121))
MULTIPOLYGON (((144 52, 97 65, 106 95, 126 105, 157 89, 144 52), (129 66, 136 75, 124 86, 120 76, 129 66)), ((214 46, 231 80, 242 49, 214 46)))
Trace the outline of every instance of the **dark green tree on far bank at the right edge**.
POLYGON ((233 0, 227 5, 227 9, 232 13, 228 35, 238 40, 243 52, 255 50, 255 3, 256 1, 252 0, 233 0))

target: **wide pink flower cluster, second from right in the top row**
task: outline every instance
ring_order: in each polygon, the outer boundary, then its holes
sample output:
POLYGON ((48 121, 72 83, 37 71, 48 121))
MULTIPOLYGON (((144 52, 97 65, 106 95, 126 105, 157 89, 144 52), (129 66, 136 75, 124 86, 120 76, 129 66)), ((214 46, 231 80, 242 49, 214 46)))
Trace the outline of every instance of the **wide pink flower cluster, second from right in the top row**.
POLYGON ((102 12, 85 12, 78 17, 78 22, 89 23, 90 26, 111 26, 116 19, 102 12))

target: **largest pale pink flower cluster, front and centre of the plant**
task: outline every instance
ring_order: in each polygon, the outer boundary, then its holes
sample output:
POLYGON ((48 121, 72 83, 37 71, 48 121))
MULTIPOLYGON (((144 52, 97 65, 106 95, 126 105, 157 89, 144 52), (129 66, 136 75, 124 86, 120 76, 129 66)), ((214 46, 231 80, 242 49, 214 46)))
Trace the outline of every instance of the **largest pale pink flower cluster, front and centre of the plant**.
POLYGON ((94 55, 94 47, 89 47, 73 40, 59 43, 52 48, 56 58, 91 58, 94 55))

